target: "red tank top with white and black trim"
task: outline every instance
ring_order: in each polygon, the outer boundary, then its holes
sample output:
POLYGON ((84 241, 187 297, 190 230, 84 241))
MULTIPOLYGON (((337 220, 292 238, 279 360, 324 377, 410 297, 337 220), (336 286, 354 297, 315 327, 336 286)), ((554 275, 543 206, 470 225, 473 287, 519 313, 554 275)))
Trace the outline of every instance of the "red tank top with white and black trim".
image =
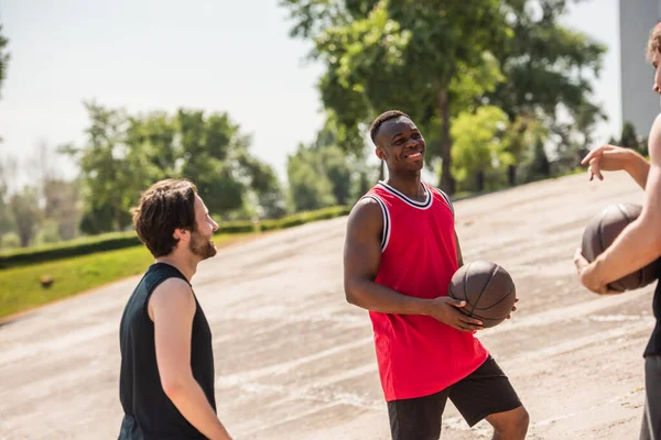
MULTIPOLYGON (((371 197, 383 212, 381 264, 376 283, 402 295, 447 295, 457 271, 454 211, 447 196, 423 184, 425 201, 415 201, 379 183, 371 197)), ((488 352, 474 337, 432 317, 369 312, 386 400, 427 396, 477 370, 488 352)))

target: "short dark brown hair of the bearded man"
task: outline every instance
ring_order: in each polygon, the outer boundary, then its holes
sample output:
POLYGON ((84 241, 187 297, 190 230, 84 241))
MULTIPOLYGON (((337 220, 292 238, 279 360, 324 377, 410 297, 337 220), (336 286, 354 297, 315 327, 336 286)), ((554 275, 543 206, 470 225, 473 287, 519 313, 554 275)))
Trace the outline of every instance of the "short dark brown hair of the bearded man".
POLYGON ((149 187, 133 213, 133 228, 154 257, 172 252, 178 239, 175 229, 195 231, 197 187, 187 179, 164 179, 149 187))

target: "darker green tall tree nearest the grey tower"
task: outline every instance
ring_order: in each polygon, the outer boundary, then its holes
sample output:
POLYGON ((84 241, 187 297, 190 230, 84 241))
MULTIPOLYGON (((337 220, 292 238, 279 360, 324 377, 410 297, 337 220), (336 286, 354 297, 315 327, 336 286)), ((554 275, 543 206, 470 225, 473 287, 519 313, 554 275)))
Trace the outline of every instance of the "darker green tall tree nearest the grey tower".
POLYGON ((606 46, 560 24, 566 0, 505 3, 512 12, 513 37, 492 51, 508 80, 487 94, 488 101, 511 122, 523 117, 553 132, 559 156, 573 167, 593 142, 596 123, 606 118, 590 102, 592 77, 599 75, 606 46))

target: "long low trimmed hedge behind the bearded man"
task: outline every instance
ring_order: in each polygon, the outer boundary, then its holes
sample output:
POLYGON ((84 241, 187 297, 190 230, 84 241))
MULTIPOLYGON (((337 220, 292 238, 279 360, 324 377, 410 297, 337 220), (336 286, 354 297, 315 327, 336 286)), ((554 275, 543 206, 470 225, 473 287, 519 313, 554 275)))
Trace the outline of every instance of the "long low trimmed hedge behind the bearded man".
MULTIPOLYGON (((332 219, 346 216, 350 207, 339 206, 319 209, 316 211, 300 212, 277 220, 231 221, 223 222, 217 233, 250 233, 259 231, 272 231, 277 229, 291 228, 311 221, 332 219)), ((0 268, 19 266, 24 264, 41 263, 66 258, 78 255, 87 255, 97 252, 112 251, 140 244, 134 232, 112 232, 97 237, 57 243, 48 246, 19 249, 0 253, 0 268)))

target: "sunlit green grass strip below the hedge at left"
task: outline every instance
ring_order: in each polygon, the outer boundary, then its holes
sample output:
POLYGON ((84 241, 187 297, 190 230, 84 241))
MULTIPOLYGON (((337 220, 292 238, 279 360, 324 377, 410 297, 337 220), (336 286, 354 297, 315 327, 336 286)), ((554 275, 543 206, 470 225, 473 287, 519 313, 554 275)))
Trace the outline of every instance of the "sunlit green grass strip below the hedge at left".
MULTIPOLYGON (((214 243, 220 248, 247 235, 218 234, 214 243)), ((2 270, 0 318, 141 274, 153 261, 147 248, 138 245, 2 270), (54 278, 50 288, 41 286, 42 276, 54 278)))

